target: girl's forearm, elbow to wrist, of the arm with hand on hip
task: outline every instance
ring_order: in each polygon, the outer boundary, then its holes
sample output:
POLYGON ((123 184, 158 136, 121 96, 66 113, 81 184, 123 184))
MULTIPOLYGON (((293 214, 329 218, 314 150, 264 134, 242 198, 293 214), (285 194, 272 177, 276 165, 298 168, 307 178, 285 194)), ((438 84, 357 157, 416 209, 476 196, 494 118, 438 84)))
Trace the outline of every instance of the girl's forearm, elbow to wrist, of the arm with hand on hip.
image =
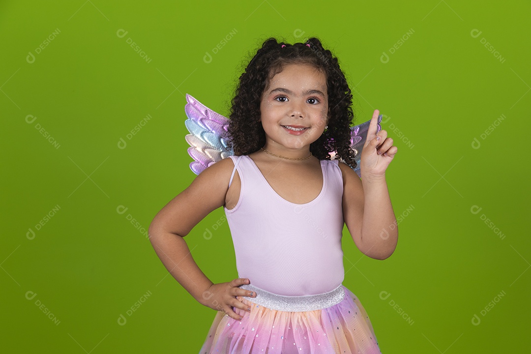
POLYGON ((183 237, 170 232, 150 232, 151 245, 168 272, 199 303, 212 282, 199 269, 183 237))

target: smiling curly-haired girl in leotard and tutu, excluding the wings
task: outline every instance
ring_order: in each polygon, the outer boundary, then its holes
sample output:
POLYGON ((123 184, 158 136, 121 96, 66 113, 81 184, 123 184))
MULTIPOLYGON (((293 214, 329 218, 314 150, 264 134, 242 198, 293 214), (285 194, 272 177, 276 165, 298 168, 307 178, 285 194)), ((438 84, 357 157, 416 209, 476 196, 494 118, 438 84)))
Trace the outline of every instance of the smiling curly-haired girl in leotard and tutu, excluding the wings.
POLYGON ((395 251, 385 171, 397 148, 386 131, 376 134, 375 110, 360 179, 351 105, 337 58, 317 38, 270 38, 240 76, 228 129, 234 156, 201 172, 149 229, 173 277, 220 311, 200 353, 380 353, 363 306, 342 285, 341 237, 346 224, 367 256, 395 251), (220 206, 239 278, 214 284, 183 237, 220 206))

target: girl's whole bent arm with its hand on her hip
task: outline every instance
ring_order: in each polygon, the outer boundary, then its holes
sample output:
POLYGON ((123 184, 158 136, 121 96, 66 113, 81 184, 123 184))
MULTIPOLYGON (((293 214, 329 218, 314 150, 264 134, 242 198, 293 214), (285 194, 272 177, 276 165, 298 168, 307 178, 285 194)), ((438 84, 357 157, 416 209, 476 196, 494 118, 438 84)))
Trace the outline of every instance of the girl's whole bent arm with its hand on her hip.
POLYGON ((149 239, 160 260, 173 277, 202 305, 224 310, 234 318, 232 306, 247 310, 236 296, 251 296, 237 288, 245 279, 213 284, 199 269, 184 240, 195 225, 225 204, 234 165, 224 159, 205 169, 192 184, 162 208, 149 226, 149 239))

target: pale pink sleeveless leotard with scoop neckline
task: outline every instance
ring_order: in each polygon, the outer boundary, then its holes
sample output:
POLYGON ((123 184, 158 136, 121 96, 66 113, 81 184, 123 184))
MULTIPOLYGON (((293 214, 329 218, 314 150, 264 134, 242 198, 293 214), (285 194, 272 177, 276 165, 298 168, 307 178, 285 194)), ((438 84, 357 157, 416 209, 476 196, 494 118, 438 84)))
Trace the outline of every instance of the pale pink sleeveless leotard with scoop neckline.
POLYGON ((295 204, 273 190, 249 156, 230 158, 241 180, 236 206, 224 208, 238 277, 286 296, 336 289, 345 276, 343 182, 338 161, 321 160, 321 193, 309 203, 295 204))

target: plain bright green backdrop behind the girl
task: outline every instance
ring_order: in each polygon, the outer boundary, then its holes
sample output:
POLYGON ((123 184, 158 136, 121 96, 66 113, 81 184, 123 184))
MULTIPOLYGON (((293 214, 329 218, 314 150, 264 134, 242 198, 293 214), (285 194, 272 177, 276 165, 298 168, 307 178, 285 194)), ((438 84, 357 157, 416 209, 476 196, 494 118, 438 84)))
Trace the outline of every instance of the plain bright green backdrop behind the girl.
MULTIPOLYGON (((227 115, 261 41, 315 35, 340 59, 357 122, 379 109, 398 146, 387 172, 395 253, 366 257, 346 229, 343 243, 344 284, 382 352, 527 349, 530 11, 526 1, 1 2, 2 348, 198 352, 216 313, 143 234, 195 177, 184 95, 227 115)), ((186 240, 212 281, 237 277, 222 209, 186 240)))

